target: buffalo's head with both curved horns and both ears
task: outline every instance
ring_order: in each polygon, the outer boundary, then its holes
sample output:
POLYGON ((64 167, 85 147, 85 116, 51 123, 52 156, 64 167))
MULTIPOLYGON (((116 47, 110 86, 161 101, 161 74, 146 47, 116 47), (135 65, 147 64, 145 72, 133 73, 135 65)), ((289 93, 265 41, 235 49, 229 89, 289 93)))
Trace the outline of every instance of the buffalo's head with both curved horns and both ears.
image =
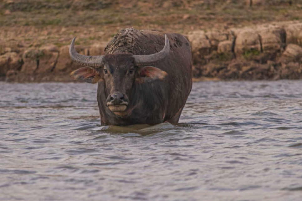
POLYGON ((160 52, 150 55, 115 53, 85 56, 76 52, 74 41, 75 38, 70 44, 70 57, 85 67, 74 70, 70 75, 74 79, 84 80, 88 83, 103 81, 107 96, 105 104, 115 115, 120 115, 128 108, 134 82, 143 83, 163 79, 167 75, 165 71, 150 66, 169 54, 170 45, 166 35, 164 48, 160 52))

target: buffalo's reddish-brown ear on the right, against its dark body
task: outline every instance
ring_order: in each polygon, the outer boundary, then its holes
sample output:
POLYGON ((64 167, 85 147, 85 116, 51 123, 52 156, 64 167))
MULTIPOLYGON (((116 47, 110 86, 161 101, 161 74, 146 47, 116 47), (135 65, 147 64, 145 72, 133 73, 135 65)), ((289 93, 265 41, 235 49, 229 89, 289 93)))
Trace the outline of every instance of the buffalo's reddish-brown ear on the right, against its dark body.
POLYGON ((168 74, 166 71, 160 70, 153 66, 144 66, 138 69, 136 78, 139 82, 152 81, 156 79, 164 79, 168 74))

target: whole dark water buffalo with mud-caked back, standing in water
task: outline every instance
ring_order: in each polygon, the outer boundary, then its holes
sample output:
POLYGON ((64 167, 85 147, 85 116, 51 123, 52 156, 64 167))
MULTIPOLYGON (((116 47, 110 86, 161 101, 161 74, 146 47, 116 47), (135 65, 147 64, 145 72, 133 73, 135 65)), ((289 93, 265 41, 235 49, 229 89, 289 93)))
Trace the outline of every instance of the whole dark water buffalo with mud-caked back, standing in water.
POLYGON ((74 79, 98 83, 101 124, 176 124, 192 88, 191 48, 181 34, 122 29, 105 55, 69 54, 74 79))

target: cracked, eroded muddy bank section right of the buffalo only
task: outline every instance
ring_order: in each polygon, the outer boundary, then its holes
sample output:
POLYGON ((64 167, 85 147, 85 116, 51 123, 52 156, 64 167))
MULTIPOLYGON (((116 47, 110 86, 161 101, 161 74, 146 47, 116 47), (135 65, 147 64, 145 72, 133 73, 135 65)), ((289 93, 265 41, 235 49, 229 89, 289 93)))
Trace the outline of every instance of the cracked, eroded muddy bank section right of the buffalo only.
POLYGON ((233 28, 223 32, 194 31, 188 39, 195 78, 302 78, 302 23, 233 28))

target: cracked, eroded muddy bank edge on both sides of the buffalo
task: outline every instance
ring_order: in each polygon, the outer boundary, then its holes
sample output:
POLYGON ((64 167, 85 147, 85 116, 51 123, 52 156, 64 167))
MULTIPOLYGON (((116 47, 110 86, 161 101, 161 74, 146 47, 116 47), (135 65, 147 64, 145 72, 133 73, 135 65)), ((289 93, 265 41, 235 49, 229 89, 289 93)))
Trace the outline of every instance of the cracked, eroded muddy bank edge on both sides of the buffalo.
MULTIPOLYGON (((192 46, 193 76, 198 80, 276 80, 302 78, 302 23, 258 25, 187 34, 192 46)), ((106 42, 77 45, 79 53, 100 55, 106 42)), ((69 45, 24 48, 2 45, 0 80, 71 81, 79 68, 69 45)))

